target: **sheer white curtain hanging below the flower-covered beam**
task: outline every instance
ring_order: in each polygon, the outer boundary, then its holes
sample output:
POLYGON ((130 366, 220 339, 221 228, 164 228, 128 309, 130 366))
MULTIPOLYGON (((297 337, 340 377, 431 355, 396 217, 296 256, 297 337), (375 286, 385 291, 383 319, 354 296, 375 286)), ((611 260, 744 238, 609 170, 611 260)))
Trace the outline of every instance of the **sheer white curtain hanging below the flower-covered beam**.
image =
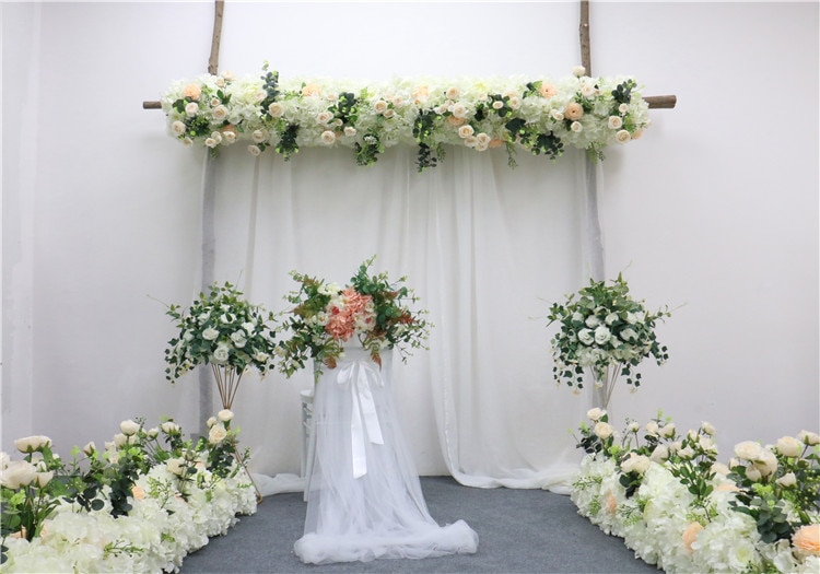
MULTIPOLYGON (((399 415, 422 475, 482 488, 560 488, 579 454, 570 430, 588 401, 558 388, 549 305, 585 281, 584 161, 448 149, 419 174, 414 150, 360 167, 345 150, 284 162, 238 148, 216 160, 218 281, 273 311, 292 269, 338 283, 376 255, 408 277, 435 325, 429 351, 394 372, 399 415)), ((297 468, 298 393, 312 377, 244 384, 234 410, 251 470, 297 468)))

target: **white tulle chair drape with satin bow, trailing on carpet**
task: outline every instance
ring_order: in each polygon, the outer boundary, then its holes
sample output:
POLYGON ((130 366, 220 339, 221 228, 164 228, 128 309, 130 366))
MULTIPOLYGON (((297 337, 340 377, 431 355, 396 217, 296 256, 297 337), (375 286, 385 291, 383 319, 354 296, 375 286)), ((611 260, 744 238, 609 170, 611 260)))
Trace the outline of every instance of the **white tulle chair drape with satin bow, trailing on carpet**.
POLYGON ((351 348, 336 368, 323 366, 305 530, 294 544, 305 563, 421 559, 478 548, 467 523, 440 526, 427 511, 394 408, 391 356, 383 351, 379 368, 367 351, 351 348))

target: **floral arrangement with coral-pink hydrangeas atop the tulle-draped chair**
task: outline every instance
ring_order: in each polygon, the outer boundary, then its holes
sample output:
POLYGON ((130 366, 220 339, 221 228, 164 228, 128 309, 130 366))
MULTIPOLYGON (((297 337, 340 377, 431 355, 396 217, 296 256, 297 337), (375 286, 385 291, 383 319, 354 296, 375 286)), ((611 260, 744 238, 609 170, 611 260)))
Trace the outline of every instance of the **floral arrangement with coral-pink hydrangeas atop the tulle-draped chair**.
POLYGON ((345 286, 291 271, 300 286, 285 295, 293 308, 283 313, 290 338, 276 351, 282 373, 290 377, 312 359, 335 368, 350 341, 377 364, 384 349, 397 349, 402 361, 412 349, 426 349, 427 312, 412 308, 418 297, 403 284, 407 278, 390 282, 386 272, 370 274, 374 259, 364 261, 345 286))

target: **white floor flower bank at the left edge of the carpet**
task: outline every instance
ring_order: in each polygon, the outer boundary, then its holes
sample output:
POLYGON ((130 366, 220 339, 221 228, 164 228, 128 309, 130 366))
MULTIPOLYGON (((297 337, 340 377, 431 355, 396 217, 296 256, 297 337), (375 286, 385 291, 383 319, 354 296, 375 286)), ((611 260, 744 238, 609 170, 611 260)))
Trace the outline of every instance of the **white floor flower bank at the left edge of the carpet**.
POLYGON ((186 440, 174 421, 124 421, 104 449, 63 462, 46 436, 0 454, 2 571, 177 572, 189 552, 226 534, 257 499, 234 456, 233 412, 186 440))

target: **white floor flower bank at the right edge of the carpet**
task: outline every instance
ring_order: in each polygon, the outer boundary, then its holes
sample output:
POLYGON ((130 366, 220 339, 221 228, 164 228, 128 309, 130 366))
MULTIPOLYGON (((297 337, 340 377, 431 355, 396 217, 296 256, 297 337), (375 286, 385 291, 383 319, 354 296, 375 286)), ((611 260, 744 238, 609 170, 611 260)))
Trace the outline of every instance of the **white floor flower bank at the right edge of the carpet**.
POLYGON ((619 435, 606 411, 589 418, 571 499, 637 558, 669 573, 820 572, 816 433, 741 443, 726 466, 708 423, 679 436, 659 415, 645 427, 628 421, 619 435))

